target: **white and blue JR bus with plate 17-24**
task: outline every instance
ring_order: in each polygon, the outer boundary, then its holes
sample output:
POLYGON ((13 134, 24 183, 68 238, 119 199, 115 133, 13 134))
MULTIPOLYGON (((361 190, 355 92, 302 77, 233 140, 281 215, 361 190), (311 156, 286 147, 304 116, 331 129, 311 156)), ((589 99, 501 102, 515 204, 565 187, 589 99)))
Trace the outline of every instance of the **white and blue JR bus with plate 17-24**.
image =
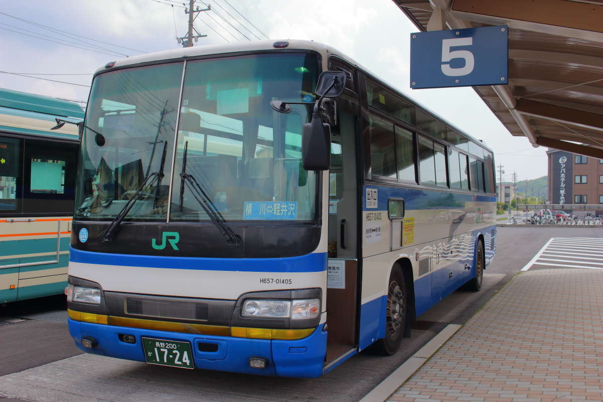
POLYGON ((318 377, 396 353, 494 256, 490 149, 330 46, 113 61, 84 123, 66 293, 88 353, 318 377))

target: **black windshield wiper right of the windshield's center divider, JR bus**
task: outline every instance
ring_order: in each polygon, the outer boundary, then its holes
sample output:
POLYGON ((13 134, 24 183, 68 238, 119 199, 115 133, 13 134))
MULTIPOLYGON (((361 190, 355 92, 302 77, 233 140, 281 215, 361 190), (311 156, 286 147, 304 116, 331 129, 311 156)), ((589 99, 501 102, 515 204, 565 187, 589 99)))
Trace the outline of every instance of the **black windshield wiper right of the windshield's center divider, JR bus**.
POLYGON ((186 155, 188 153, 188 141, 185 142, 185 150, 184 155, 182 157, 182 172, 180 173, 181 183, 180 183, 180 211, 183 209, 183 201, 184 201, 184 186, 186 183, 186 187, 191 190, 192 196, 195 198, 197 203, 203 208, 209 219, 213 222, 213 224, 218 228, 220 233, 226 238, 226 242, 232 245, 238 245, 241 240, 241 236, 236 234, 227 224, 224 216, 218 211, 218 209, 213 205, 212 199, 207 195, 201 184, 197 181, 197 179, 186 173, 186 155))

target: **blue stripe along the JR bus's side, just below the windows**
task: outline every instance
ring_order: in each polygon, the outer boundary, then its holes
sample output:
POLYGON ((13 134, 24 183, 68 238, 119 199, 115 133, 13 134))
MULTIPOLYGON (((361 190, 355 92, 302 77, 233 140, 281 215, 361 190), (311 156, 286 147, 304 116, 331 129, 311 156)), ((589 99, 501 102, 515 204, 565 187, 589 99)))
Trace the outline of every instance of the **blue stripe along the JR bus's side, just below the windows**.
POLYGON ((464 208, 466 203, 494 203, 496 196, 476 193, 450 193, 438 190, 389 186, 364 186, 362 210, 385 211, 389 198, 403 198, 406 210, 464 208), (366 189, 377 189, 377 207, 367 208, 366 189))

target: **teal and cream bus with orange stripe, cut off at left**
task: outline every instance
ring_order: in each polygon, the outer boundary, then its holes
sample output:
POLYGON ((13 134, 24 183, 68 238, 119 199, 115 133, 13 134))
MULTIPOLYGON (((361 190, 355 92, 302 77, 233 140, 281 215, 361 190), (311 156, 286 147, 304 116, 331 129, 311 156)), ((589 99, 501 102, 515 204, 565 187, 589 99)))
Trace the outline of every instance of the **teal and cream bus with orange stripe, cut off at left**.
POLYGON ((67 286, 80 105, 0 89, 0 304, 67 286), (52 130, 52 131, 51 131, 52 130))

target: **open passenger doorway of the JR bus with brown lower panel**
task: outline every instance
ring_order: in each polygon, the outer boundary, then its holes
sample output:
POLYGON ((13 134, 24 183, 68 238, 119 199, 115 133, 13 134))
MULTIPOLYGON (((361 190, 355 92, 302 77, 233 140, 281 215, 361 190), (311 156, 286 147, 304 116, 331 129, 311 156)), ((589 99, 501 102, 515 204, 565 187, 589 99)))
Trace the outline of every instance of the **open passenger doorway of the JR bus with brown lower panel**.
POLYGON ((356 117, 341 107, 332 130, 329 170, 329 262, 327 271, 327 356, 325 369, 356 350, 358 289, 356 117))

